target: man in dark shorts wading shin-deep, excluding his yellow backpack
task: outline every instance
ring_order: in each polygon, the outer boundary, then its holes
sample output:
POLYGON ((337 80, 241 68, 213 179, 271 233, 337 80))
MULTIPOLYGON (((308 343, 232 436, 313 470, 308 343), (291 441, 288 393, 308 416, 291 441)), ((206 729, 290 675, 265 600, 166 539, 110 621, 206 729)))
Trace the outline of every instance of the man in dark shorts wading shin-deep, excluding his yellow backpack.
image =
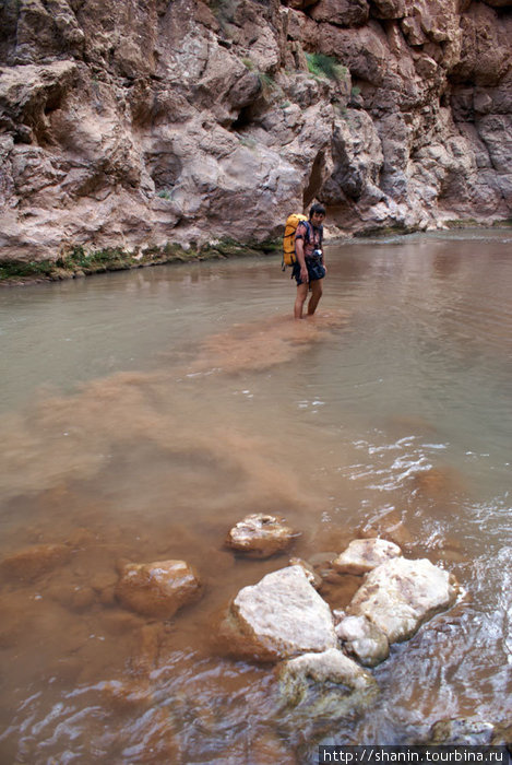
POLYGON ((308 303, 308 316, 317 310, 322 297, 322 279, 325 276, 325 263, 322 251, 323 221, 325 208, 322 204, 313 204, 309 211, 309 221, 301 221, 295 234, 295 255, 291 276, 297 281, 297 297, 295 298, 294 315, 296 319, 302 318, 303 304, 311 290, 308 303))

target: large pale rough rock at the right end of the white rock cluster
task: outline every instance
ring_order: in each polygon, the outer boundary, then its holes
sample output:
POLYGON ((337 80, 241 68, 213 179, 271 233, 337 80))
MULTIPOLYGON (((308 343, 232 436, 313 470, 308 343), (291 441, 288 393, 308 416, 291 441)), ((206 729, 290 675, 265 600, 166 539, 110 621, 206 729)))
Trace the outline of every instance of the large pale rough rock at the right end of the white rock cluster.
POLYGON ((456 598, 448 572, 430 561, 395 557, 366 575, 348 612, 367 616, 390 643, 407 640, 456 598))

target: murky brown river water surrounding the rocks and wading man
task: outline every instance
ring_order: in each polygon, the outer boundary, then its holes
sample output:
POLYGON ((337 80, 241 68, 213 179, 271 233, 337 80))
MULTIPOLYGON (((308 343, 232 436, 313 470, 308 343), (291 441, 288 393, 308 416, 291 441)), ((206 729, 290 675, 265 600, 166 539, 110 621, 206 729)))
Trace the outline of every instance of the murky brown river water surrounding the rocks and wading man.
POLYGON ((277 257, 1 291, 1 763, 286 765, 320 740, 511 719, 512 232, 328 259, 313 321, 291 320, 277 257), (290 729, 273 669, 219 654, 217 614, 288 561, 224 549, 259 511, 303 558, 377 532, 461 582, 372 670, 368 713, 290 729), (13 576, 21 551, 62 543, 13 576), (167 623, 117 604, 120 563, 168 558, 200 572, 198 603, 167 623))

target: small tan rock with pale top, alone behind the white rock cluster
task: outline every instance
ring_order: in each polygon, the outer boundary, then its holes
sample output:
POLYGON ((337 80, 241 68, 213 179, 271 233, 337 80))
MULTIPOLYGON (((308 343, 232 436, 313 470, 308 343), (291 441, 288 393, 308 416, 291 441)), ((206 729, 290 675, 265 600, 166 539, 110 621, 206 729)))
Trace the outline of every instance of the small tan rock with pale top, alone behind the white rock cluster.
POLYGON ((250 557, 270 557, 286 550, 298 533, 284 518, 262 513, 247 516, 229 531, 226 545, 250 557))

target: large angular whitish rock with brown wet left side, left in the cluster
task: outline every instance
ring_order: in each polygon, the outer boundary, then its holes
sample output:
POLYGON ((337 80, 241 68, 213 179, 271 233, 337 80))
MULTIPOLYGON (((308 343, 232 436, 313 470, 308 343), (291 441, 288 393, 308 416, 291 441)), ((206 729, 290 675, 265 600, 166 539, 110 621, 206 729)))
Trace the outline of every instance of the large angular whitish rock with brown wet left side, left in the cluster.
POLYGON ((337 647, 331 609, 301 566, 243 587, 221 624, 221 636, 231 655, 259 661, 337 647))

